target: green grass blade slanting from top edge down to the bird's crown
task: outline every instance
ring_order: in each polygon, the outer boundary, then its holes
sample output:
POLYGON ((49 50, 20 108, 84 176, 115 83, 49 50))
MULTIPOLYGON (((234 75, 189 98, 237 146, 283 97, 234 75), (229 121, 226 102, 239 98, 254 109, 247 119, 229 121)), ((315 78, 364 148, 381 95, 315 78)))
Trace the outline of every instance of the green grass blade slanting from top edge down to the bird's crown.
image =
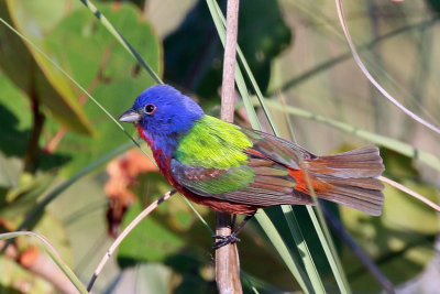
POLYGON ((150 67, 150 65, 142 58, 142 56, 133 48, 129 41, 123 37, 123 35, 118 32, 118 30, 111 24, 111 22, 106 18, 106 15, 100 12, 96 6, 89 0, 79 0, 85 4, 91 13, 102 23, 102 25, 118 40, 119 43, 139 62, 139 64, 150 74, 150 76, 157 83, 164 84, 157 74, 150 67))

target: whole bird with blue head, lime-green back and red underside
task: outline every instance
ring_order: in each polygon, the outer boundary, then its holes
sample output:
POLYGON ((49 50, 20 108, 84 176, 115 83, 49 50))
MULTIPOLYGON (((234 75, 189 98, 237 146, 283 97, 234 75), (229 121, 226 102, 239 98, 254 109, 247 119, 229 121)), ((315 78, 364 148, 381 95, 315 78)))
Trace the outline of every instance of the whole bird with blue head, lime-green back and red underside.
POLYGON ((231 236, 237 242, 258 208, 314 205, 314 197, 380 216, 384 171, 375 145, 318 156, 279 137, 208 116, 169 85, 144 90, 123 112, 150 145, 161 173, 189 200, 213 210, 245 215, 231 236))

